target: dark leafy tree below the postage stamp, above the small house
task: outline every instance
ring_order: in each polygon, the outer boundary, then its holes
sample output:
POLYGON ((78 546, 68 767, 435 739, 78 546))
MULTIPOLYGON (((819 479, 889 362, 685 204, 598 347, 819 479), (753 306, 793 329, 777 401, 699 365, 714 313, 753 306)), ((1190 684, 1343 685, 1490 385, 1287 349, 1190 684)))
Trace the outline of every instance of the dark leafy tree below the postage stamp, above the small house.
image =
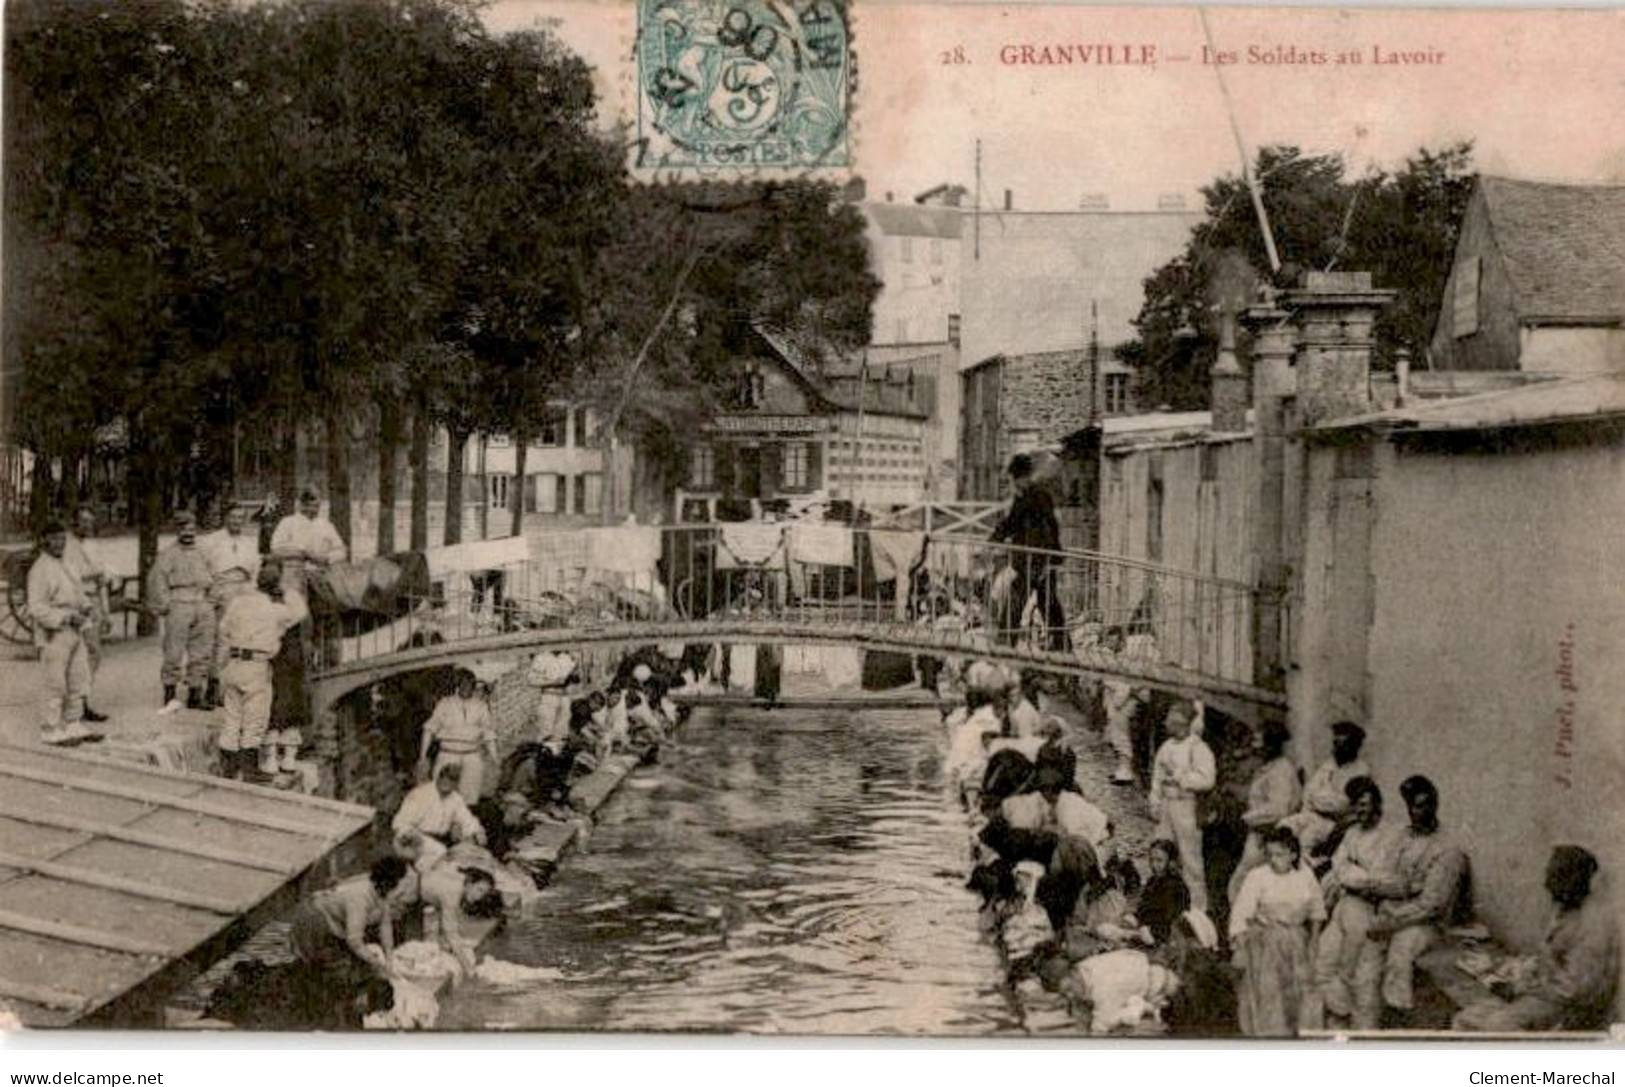
POLYGON ((879 281, 861 213, 827 182, 652 185, 624 200, 590 322, 608 364, 583 375, 580 393, 611 424, 601 440, 635 444, 647 483, 665 491, 681 481, 752 328, 827 361, 868 343, 879 281))

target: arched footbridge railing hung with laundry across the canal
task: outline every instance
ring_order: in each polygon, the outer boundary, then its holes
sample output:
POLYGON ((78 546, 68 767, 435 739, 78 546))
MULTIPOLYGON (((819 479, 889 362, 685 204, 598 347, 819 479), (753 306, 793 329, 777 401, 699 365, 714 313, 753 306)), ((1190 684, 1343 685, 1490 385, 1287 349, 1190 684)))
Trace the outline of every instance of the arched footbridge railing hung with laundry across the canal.
POLYGON ((910 627, 944 647, 1136 655, 1251 684, 1253 591, 1243 582, 1087 551, 843 525, 676 525, 658 554, 588 554, 450 578, 408 614, 346 616, 323 632, 328 666, 439 642, 614 624, 704 632, 751 619, 910 627), (362 629, 367 622, 369 629, 362 629))

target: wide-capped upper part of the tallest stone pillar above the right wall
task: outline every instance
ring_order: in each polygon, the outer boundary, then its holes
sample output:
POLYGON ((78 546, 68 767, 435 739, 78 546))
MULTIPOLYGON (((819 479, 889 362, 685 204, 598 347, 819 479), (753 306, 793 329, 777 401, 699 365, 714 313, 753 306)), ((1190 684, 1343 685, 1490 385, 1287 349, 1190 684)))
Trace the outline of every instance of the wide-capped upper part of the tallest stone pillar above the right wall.
POLYGON ((1394 294, 1375 289, 1370 271, 1305 271, 1282 296, 1298 328, 1302 426, 1372 409, 1372 325, 1394 294))

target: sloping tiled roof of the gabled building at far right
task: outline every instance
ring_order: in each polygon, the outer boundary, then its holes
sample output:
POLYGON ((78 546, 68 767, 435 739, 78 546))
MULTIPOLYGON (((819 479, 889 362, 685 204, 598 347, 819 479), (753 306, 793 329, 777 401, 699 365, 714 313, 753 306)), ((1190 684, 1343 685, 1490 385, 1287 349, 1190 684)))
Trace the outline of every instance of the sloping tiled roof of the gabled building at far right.
POLYGON ((1625 318, 1625 185, 1479 184, 1519 318, 1625 318))

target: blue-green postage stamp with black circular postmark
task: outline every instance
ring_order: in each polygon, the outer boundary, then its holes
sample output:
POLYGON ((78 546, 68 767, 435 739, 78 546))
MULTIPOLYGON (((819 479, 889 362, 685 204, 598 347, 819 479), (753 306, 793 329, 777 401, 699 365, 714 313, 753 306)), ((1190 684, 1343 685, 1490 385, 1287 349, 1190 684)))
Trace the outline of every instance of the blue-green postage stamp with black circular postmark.
POLYGON ((644 169, 852 166, 847 0, 639 0, 644 169))

